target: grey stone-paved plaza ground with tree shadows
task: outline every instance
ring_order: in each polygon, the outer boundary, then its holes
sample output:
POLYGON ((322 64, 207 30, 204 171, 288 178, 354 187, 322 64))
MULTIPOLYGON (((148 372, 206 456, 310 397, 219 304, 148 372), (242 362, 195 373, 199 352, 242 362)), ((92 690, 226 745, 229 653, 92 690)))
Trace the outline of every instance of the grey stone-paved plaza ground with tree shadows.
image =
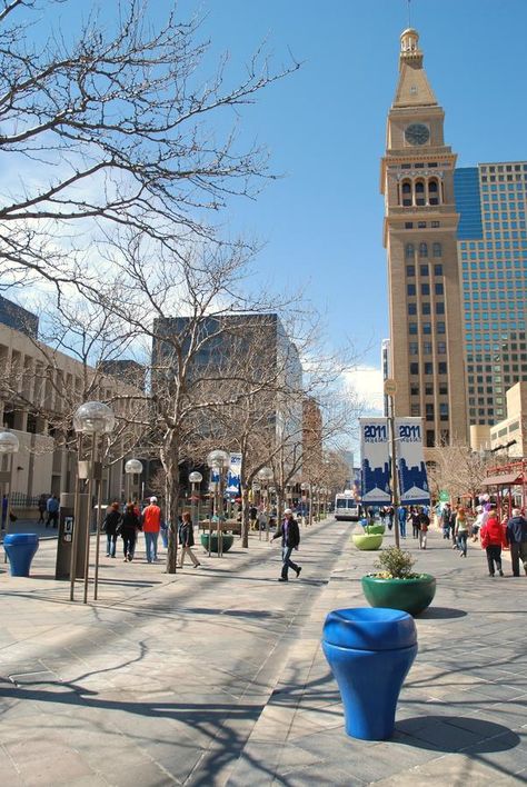
POLYGON ((527 783, 527 577, 491 579, 479 546, 463 559, 434 531, 417 568, 438 591, 396 735, 345 735, 320 634, 330 609, 365 605, 376 556, 351 529, 304 530, 288 585, 278 545, 257 535, 222 559, 197 549, 202 568, 176 577, 143 552, 103 557, 87 606, 42 542, 32 577, 0 575, 0 784, 527 783))

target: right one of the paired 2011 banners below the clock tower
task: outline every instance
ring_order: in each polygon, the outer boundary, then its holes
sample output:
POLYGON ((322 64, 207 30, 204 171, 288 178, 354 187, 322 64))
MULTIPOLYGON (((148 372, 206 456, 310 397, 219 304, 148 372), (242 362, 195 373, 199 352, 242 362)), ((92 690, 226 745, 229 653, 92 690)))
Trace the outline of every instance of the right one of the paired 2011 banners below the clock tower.
POLYGON ((422 451, 421 419, 396 418, 395 430, 401 505, 427 505, 430 502, 430 491, 422 451))

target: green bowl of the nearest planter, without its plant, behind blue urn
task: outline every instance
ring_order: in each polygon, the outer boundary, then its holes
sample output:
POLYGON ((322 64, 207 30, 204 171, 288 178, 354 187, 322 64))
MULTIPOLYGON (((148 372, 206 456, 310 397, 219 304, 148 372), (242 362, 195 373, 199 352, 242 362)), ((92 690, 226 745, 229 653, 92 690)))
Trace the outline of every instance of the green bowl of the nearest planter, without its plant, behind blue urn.
POLYGON ((380 579, 362 577, 362 592, 371 607, 400 609, 419 615, 436 595, 436 578, 425 574, 417 579, 380 579))

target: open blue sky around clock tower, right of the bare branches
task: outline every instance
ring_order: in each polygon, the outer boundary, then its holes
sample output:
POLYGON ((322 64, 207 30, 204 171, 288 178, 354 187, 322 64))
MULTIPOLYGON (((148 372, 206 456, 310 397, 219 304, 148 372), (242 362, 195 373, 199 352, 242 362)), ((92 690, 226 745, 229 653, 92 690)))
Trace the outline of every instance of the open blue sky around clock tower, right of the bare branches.
MULTIPOLYGON (((148 13, 161 19, 171 4, 150 0, 148 13)), ((526 0, 410 6, 458 165, 527 159, 526 0)), ((267 146, 281 177, 256 200, 233 200, 221 220, 230 235, 261 242, 262 282, 278 293, 302 288, 334 343, 352 341, 361 367, 352 380, 376 409, 388 330, 379 172, 407 0, 179 0, 178 9, 202 16, 208 62, 228 52, 232 82, 262 42, 276 69, 291 56, 301 62, 232 117, 240 143, 267 146)))

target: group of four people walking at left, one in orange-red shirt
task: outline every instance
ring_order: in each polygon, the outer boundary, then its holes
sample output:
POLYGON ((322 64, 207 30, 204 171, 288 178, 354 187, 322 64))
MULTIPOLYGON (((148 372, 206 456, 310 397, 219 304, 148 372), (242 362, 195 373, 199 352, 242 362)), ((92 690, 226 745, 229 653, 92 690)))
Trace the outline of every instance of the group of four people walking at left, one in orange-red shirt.
MULTIPOLYGON (((157 497, 150 498, 149 505, 142 512, 137 502, 127 502, 125 511, 121 511, 119 502, 112 502, 102 522, 102 529, 107 536, 106 556, 116 557, 117 539, 120 536, 125 562, 131 562, 136 554, 138 534, 142 531, 147 562, 157 562, 159 535, 166 527, 157 497)), ((180 545, 180 567, 183 567, 186 556, 190 557, 193 566, 199 566, 200 562, 192 552, 193 526, 189 511, 185 511, 179 518, 178 541, 180 545)))

